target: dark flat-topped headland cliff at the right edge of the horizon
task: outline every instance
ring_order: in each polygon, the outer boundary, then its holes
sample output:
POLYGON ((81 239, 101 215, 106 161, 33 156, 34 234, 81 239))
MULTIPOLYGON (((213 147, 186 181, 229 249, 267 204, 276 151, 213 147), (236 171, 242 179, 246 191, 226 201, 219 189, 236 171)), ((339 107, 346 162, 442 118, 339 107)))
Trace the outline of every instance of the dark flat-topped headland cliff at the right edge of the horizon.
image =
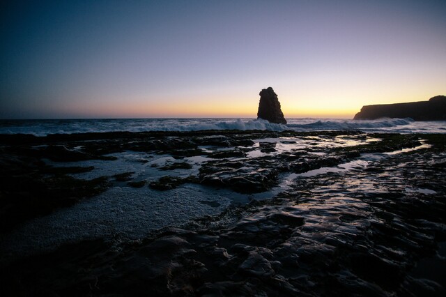
POLYGON ((355 114, 355 120, 380 118, 411 118, 415 121, 446 121, 446 96, 435 96, 429 101, 365 105, 355 114))

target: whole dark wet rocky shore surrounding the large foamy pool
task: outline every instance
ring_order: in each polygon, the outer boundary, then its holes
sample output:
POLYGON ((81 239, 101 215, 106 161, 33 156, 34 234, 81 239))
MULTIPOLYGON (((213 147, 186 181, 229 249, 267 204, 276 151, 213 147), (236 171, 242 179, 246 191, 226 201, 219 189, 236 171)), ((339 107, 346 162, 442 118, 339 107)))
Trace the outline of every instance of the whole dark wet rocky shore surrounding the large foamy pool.
POLYGON ((0 144, 2 234, 116 185, 271 193, 137 241, 3 256, 2 296, 445 294, 446 135, 110 132, 0 135, 0 144), (82 162, 128 151, 166 174, 78 177, 98 170, 82 162))

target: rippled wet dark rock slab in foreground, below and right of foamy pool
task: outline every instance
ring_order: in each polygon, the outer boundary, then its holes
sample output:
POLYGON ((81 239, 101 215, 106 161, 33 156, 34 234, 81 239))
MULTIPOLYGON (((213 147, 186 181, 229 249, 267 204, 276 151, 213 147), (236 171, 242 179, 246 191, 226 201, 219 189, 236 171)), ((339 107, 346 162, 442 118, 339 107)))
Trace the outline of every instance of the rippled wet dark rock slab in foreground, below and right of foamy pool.
MULTIPOLYGON (((431 147, 296 178, 273 199, 139 242, 82 241, 10 259, 0 294, 445 296, 446 139, 424 137, 431 147)), ((390 135, 383 151, 404 139, 390 135)))

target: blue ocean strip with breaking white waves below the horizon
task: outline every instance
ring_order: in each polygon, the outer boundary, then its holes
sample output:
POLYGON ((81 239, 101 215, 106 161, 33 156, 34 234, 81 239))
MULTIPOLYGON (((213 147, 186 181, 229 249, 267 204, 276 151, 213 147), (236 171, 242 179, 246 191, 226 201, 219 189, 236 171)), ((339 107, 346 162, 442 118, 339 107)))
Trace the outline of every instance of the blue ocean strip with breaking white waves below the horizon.
POLYGON ((259 119, 54 119, 0 120, 0 134, 71 134, 84 132, 144 132, 198 130, 361 130, 384 133, 446 133, 446 121, 412 119, 287 119, 288 124, 274 124, 259 119))

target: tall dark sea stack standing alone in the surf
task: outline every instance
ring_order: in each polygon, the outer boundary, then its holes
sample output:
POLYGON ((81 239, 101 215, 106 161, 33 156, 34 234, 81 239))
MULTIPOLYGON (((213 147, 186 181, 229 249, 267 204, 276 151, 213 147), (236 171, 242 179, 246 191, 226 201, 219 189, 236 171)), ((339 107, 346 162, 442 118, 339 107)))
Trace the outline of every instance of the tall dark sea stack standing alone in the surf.
POLYGON ((284 113, 280 109, 279 98, 274 90, 269 87, 263 89, 260 93, 259 111, 257 112, 257 119, 264 119, 270 123, 286 124, 284 113))

